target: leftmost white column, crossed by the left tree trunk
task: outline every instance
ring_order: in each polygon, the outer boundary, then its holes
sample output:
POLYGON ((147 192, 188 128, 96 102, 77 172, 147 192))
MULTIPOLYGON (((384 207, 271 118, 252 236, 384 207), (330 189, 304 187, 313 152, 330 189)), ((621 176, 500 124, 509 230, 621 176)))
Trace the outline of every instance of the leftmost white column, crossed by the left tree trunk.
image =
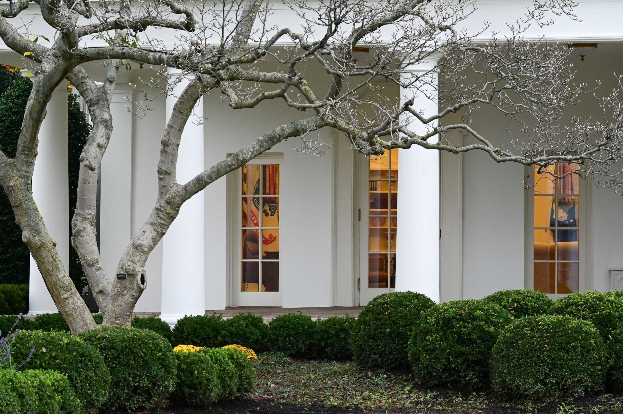
MULTIPOLYGON (((32 174, 34 197, 45 227, 56 240, 60 260, 69 271, 69 164, 67 161, 67 82, 61 82, 47 103, 39 131, 37 160, 32 174)), ((37 263, 30 258, 29 314, 56 313, 37 263)))

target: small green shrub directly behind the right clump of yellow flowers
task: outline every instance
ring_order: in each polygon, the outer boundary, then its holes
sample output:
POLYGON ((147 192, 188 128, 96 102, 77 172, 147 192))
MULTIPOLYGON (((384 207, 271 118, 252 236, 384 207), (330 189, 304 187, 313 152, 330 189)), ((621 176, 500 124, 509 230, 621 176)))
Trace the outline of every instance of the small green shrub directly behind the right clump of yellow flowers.
POLYGON ((266 349, 266 336, 269 327, 261 316, 250 312, 239 313, 223 322, 219 343, 221 345, 239 344, 261 352, 266 349))

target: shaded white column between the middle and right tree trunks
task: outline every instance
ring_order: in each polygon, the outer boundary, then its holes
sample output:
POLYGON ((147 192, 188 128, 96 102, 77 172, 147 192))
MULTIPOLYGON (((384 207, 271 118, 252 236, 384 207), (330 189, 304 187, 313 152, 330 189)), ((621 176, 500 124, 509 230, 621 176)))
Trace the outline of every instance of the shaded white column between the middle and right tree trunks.
POLYGON ((108 275, 114 275, 131 234, 132 96, 127 83, 117 83, 110 103, 113 133, 102 158, 100 184, 100 256, 108 275))

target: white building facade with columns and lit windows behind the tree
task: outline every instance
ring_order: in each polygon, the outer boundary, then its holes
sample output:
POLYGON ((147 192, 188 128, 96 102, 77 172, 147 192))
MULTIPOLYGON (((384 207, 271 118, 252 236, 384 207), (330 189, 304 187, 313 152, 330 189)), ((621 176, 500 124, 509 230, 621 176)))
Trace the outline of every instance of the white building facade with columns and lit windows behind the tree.
MULTIPOLYGON (((529 4, 478 1, 467 24, 477 31, 488 20, 491 30, 503 34, 508 16, 520 15, 529 4)), ((297 19, 287 13, 277 8, 272 18, 297 19)), ((572 55, 576 82, 601 80, 606 94, 616 83, 612 72, 623 70, 623 1, 582 0, 576 14, 581 21, 559 17, 553 26, 531 27, 526 36, 597 43, 583 62, 572 55)), ((2 57, 19 65, 8 50, 2 57)), ((434 64, 431 59, 427 65, 434 64)), ((409 70, 426 70, 422 65, 409 70)), ((97 64, 89 68, 102 71, 97 64)), ((311 65, 307 70, 310 83, 326 82, 321 70, 311 65)), ((149 71, 120 72, 112 103, 113 136, 100 184, 100 252, 110 273, 158 193, 160 138, 174 98, 156 98, 142 118, 126 111, 131 104, 125 99, 136 93, 129 84, 149 71)), ((384 93, 411 96, 389 83, 384 93)), ((425 113, 438 110, 434 101, 419 99, 414 106, 425 113)), ((60 183, 67 182, 63 100, 57 93, 50 101, 40 146, 64 145, 52 146, 64 148, 65 159, 40 148, 33 192, 59 253, 69 261, 69 223, 50 225, 68 203, 68 197, 56 196, 65 191, 57 188, 64 186, 60 183)), ((269 130, 292 120, 279 103, 234 111, 217 92, 204 96, 195 110, 204 120, 189 122, 184 131, 180 182, 254 141, 258 127, 269 130)), ((598 110, 583 99, 569 119, 598 110)), ((483 108, 474 120, 473 128, 491 141, 508 142, 507 121, 499 113, 483 108)), ((320 136, 331 145, 324 156, 297 152, 298 142, 289 139, 184 204, 147 261, 148 286, 135 311, 161 313, 174 323, 184 314, 227 306, 363 306, 389 290, 450 301, 500 289, 536 288, 553 297, 623 289, 623 197, 611 190, 574 179, 564 189, 535 194, 522 186, 534 179, 530 169, 497 164, 484 153, 414 148, 369 160, 351 150, 338 131, 323 129, 320 136), (576 225, 561 230, 559 223, 572 214, 576 225)), ((470 141, 459 133, 452 139, 470 141)), ((55 311, 33 263, 31 313, 55 311)))

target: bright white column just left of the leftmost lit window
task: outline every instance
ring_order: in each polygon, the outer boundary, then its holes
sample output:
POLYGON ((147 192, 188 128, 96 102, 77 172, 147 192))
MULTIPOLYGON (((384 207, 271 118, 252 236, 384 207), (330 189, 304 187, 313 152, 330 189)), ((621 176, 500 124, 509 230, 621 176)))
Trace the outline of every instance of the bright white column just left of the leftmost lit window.
MULTIPOLYGON (((169 75, 179 72, 169 69, 169 75)), ((188 85, 183 79, 166 98, 166 121, 178 96, 188 85)), ((203 98, 194 113, 203 116, 203 98)), ((180 184, 204 170, 203 125, 196 125, 191 115, 179 145, 177 179, 180 184)), ((223 201, 224 202, 224 201, 223 201)), ((206 311, 204 259, 204 197, 196 194, 186 201, 178 217, 163 238, 162 309, 160 318, 173 326, 186 315, 202 315, 206 311)))

